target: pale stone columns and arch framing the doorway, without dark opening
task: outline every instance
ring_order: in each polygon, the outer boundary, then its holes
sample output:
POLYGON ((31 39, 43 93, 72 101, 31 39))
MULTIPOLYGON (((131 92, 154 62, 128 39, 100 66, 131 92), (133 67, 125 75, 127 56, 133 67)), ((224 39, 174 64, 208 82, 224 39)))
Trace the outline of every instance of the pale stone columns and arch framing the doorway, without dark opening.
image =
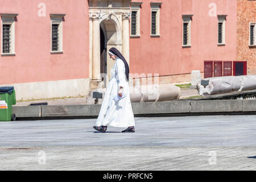
MULTIPOLYGON (((113 7, 112 5, 119 2, 118 0, 117 2, 101 0, 101 4, 97 4, 97 2, 95 0, 94 4, 91 3, 89 6, 89 76, 91 78, 91 89, 97 88, 98 83, 101 82, 100 28, 105 31, 106 51, 111 47, 117 48, 129 64, 129 19, 131 13, 128 2, 130 1, 123 1, 126 2, 123 3, 123 5, 126 5, 125 7, 113 7)), ((110 78, 110 69, 114 62, 106 56, 106 63, 106 75, 110 78)))

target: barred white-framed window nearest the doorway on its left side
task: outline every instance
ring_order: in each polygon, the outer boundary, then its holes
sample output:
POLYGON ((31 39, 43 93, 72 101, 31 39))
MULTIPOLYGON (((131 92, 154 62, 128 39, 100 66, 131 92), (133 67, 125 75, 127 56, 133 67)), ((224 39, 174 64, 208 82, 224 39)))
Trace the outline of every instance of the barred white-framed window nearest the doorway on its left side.
POLYGON ((63 53, 63 18, 65 14, 51 14, 51 53, 63 53))

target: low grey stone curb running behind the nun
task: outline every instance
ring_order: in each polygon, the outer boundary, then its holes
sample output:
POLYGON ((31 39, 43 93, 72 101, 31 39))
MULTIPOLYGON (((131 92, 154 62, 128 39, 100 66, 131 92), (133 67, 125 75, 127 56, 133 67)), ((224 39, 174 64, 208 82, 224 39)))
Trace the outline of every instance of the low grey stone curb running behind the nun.
MULTIPOLYGON (((134 115, 218 114, 256 111, 256 100, 163 101, 131 103, 134 115)), ((13 106, 16 118, 97 117, 101 105, 13 106)))

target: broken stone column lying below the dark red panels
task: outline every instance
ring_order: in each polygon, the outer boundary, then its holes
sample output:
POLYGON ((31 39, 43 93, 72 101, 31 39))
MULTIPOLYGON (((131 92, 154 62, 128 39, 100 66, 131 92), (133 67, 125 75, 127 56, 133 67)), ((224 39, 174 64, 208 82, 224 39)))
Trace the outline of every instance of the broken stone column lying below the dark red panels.
POLYGON ((256 75, 204 78, 197 83, 200 96, 256 89, 256 75))

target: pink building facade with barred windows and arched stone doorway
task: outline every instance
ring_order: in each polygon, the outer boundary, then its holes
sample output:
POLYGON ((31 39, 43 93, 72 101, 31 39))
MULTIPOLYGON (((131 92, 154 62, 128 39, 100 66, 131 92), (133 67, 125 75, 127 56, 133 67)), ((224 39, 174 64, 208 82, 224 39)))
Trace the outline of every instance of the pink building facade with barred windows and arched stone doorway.
POLYGON ((0 85, 14 86, 17 100, 108 85, 111 47, 129 63, 131 85, 191 81, 204 60, 237 58, 234 0, 1 0, 0 14, 0 85))

